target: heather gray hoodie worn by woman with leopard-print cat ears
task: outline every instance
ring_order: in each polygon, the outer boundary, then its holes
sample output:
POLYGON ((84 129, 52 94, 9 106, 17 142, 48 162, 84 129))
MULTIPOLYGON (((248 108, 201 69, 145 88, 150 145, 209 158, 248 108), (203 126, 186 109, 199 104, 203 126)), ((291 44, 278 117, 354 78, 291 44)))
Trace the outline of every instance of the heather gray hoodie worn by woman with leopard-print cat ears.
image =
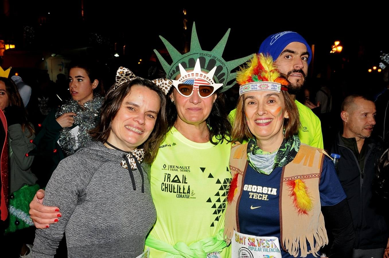
POLYGON ((156 220, 151 199, 150 168, 142 163, 129 171, 121 167, 123 152, 100 142, 61 160, 46 187, 44 204, 58 206, 62 217, 49 228, 37 229, 33 257, 54 257, 66 234, 68 257, 136 257, 156 220), (147 176, 146 176, 147 174, 147 176))

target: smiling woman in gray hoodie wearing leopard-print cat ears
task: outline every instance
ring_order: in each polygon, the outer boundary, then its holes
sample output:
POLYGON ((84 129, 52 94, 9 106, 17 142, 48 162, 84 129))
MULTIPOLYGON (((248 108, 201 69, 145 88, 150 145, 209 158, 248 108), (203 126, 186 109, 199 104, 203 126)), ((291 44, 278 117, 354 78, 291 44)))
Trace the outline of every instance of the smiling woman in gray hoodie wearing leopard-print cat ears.
POLYGON ((59 207, 61 218, 37 229, 33 257, 54 257, 64 232, 68 257, 143 253, 156 220, 148 164, 166 134, 164 110, 158 86, 119 68, 90 131, 96 141, 61 160, 47 184, 44 204, 59 207))

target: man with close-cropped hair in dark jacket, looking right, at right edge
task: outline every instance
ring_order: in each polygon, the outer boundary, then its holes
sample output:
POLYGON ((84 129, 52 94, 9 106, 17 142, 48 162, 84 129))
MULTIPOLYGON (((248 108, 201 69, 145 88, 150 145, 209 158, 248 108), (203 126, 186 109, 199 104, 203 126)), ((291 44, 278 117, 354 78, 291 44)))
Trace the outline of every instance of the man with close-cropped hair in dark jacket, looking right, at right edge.
POLYGON ((341 156, 338 176, 349 202, 356 241, 353 258, 382 258, 388 230, 382 207, 374 204, 371 183, 382 149, 371 136, 375 125, 375 105, 370 99, 351 95, 342 103, 343 132, 336 136, 331 152, 341 156))

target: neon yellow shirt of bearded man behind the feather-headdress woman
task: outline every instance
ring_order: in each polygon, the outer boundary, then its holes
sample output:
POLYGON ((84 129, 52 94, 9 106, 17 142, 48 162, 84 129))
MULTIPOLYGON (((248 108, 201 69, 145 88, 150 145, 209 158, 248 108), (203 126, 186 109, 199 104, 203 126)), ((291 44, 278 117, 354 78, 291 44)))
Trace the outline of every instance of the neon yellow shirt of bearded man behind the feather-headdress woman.
MULTIPOLYGON (((297 100, 295 100, 294 103, 296 103, 298 113, 300 115, 301 127, 298 129, 298 137, 300 138, 301 143, 305 143, 316 148, 324 148, 319 117, 317 117, 310 108, 301 104, 297 100)), ((236 108, 230 112, 228 115, 230 121, 235 119, 236 112, 236 108)))

